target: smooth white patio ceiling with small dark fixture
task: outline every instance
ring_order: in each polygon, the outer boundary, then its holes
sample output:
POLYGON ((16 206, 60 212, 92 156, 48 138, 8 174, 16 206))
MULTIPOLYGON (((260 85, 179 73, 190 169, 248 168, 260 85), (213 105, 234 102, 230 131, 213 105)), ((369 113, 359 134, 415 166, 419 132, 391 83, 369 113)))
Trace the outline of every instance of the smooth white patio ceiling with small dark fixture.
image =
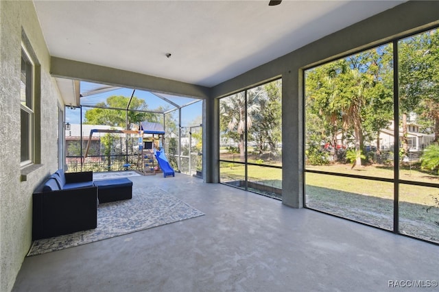
POLYGON ((51 56, 208 87, 404 1, 268 2, 34 1, 51 56))

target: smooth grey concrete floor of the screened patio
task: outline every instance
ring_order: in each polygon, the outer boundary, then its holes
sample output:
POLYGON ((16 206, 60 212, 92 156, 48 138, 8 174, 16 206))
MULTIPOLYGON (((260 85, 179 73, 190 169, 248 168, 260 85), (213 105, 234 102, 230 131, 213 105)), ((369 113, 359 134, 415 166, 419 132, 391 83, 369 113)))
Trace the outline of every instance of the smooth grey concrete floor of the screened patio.
POLYGON ((130 180, 206 215, 25 258, 13 291, 438 291, 437 245, 187 175, 130 180))

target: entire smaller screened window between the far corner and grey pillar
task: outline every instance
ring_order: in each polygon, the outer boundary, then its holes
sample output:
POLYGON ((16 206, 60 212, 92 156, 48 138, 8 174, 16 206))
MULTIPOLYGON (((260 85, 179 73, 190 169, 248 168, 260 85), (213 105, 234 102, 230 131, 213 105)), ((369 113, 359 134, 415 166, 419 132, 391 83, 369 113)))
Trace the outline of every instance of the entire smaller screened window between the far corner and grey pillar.
POLYGON ((281 199, 282 82, 219 100, 220 182, 281 199))

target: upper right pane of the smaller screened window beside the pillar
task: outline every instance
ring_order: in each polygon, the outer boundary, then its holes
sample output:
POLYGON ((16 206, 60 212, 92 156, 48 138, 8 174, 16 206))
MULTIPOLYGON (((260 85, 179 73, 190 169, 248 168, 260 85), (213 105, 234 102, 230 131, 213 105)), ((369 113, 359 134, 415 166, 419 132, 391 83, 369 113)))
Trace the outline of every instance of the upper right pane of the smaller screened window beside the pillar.
POLYGON ((248 162, 282 166, 282 82, 248 90, 248 162))

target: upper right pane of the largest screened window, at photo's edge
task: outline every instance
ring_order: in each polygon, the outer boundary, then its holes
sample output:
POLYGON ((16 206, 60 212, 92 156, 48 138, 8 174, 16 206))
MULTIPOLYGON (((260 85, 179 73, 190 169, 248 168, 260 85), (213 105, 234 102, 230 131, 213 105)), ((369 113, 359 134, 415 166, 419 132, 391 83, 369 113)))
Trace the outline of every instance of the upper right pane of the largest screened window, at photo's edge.
POLYGON ((439 32, 398 42, 401 180, 439 182, 439 32))

